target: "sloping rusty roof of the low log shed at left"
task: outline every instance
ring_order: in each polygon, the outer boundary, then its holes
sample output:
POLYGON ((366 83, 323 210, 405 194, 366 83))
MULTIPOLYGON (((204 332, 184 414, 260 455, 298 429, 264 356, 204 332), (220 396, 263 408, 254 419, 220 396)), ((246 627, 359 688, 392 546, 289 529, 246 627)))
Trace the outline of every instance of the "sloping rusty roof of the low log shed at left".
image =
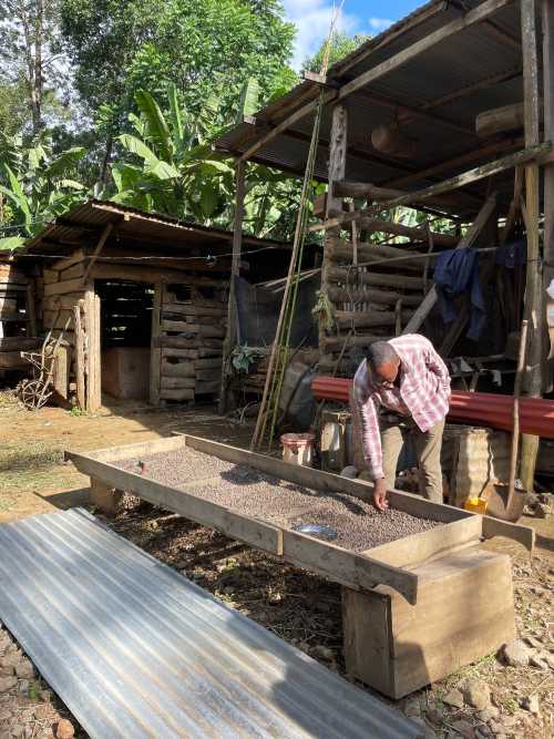
MULTIPOLYGON (((175 253, 208 248, 217 254, 229 252, 233 233, 198 224, 187 223, 158 213, 145 213, 137 208, 110 201, 90 199, 76 205, 54 223, 28 239, 16 257, 49 255, 64 256, 80 247, 94 247, 102 229, 113 224, 110 246, 134 249, 175 253)), ((245 235, 243 244, 259 248, 285 248, 289 245, 274 239, 261 239, 245 235)))

